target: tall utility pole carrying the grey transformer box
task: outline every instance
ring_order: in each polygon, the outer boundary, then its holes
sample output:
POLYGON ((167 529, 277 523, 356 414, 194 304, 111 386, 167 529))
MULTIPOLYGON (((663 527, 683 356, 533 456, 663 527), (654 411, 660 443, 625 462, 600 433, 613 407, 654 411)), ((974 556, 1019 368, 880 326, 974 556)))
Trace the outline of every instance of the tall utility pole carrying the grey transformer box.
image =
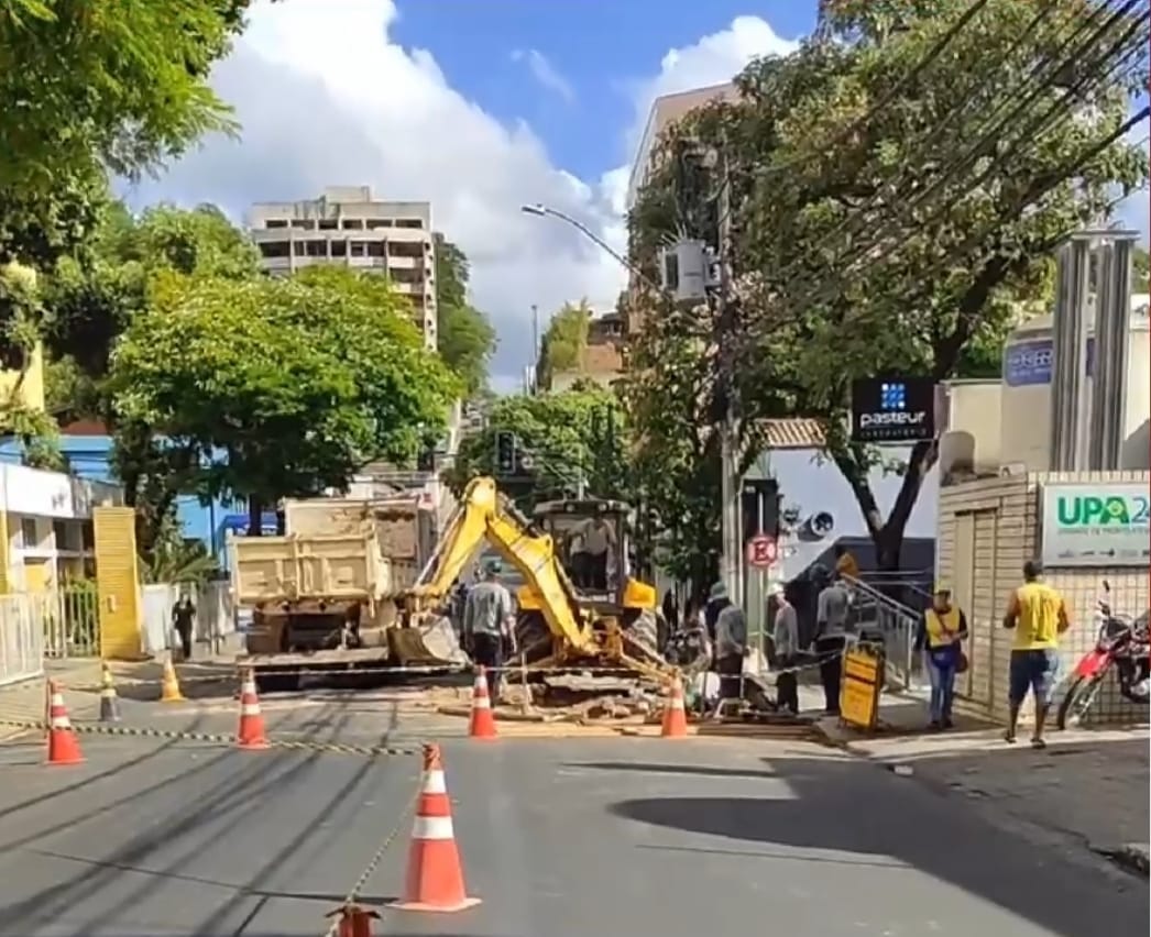
POLYGON ((731 297, 731 167, 727 141, 718 158, 718 248, 719 290, 716 293, 716 351, 719 367, 718 389, 723 407, 719 431, 721 529, 719 575, 735 605, 744 604, 744 547, 740 537, 739 447, 737 444, 738 401, 735 393, 735 329, 738 309, 731 297))

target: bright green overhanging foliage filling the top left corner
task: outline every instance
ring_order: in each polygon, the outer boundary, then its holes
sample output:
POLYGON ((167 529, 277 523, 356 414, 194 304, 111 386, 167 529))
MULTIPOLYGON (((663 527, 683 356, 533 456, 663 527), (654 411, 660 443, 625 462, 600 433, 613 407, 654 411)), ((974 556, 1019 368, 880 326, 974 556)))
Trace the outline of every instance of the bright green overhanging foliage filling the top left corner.
POLYGON ((13 0, 0 9, 0 189, 134 176, 235 128, 208 72, 250 0, 13 0))

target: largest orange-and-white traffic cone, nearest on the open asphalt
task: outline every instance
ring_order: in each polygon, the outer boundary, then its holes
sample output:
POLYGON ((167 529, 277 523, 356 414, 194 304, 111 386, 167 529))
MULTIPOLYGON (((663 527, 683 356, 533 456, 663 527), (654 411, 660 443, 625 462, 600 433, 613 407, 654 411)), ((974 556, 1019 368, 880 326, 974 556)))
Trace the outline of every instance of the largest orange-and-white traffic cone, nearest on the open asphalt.
POLYGON ((451 801, 439 745, 424 746, 424 788, 416 811, 407 852, 404 897, 391 906, 401 911, 464 911, 480 904, 468 898, 464 868, 451 825, 451 801))

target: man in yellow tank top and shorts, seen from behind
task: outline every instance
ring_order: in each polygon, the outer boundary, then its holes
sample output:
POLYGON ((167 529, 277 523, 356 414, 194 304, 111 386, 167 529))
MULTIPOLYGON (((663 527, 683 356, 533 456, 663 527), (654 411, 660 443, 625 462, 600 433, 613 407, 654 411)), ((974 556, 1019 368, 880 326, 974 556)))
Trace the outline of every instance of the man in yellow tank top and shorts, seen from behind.
POLYGON ((1004 615, 1004 628, 1014 629, 1008 673, 1009 722, 1004 740, 1015 743, 1019 709, 1028 689, 1035 697, 1032 748, 1046 748, 1043 727, 1059 670, 1059 636, 1070 627, 1067 606, 1059 592, 1043 582, 1043 564, 1030 560, 1023 566, 1023 585, 1016 589, 1004 615))

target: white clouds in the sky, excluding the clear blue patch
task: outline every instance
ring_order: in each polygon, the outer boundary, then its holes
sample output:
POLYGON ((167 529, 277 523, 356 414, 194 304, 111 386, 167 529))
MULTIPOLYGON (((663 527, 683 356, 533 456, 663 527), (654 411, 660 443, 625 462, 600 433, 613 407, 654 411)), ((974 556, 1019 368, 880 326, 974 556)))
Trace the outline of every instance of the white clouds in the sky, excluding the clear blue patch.
MULTIPOLYGON (((252 202, 313 198, 327 185, 427 199, 436 229, 467 253, 474 301, 496 324, 495 383, 516 386, 531 356, 533 304, 550 312, 586 297, 609 308, 626 279, 577 231, 519 206, 565 212, 622 251, 627 167, 585 182, 555 166, 526 124, 501 124, 450 87, 429 51, 391 43, 395 17, 391 0, 258 0, 213 76, 236 108, 241 139, 206 140, 129 195, 212 201, 236 217, 252 202)), ((669 52, 655 77, 631 89, 635 126, 619 129, 622 151, 653 95, 727 80, 754 55, 782 48, 762 20, 739 17, 669 52)))

